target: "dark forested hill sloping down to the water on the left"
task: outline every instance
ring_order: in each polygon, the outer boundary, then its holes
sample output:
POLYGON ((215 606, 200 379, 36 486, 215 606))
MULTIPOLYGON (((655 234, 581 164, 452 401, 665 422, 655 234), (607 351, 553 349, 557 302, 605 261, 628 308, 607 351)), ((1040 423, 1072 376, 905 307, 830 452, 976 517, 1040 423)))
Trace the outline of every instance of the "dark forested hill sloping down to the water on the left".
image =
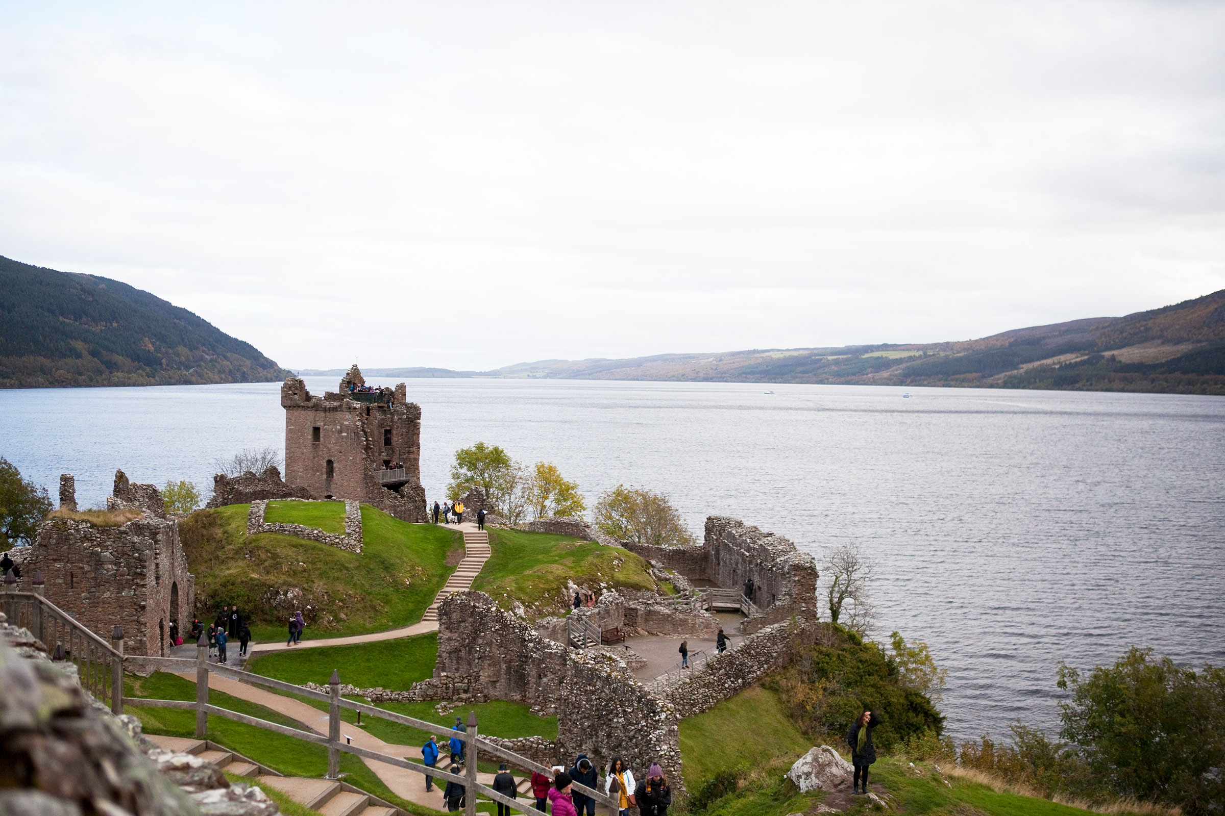
POLYGON ((263 383, 289 372, 185 308, 0 257, 0 388, 263 383))

